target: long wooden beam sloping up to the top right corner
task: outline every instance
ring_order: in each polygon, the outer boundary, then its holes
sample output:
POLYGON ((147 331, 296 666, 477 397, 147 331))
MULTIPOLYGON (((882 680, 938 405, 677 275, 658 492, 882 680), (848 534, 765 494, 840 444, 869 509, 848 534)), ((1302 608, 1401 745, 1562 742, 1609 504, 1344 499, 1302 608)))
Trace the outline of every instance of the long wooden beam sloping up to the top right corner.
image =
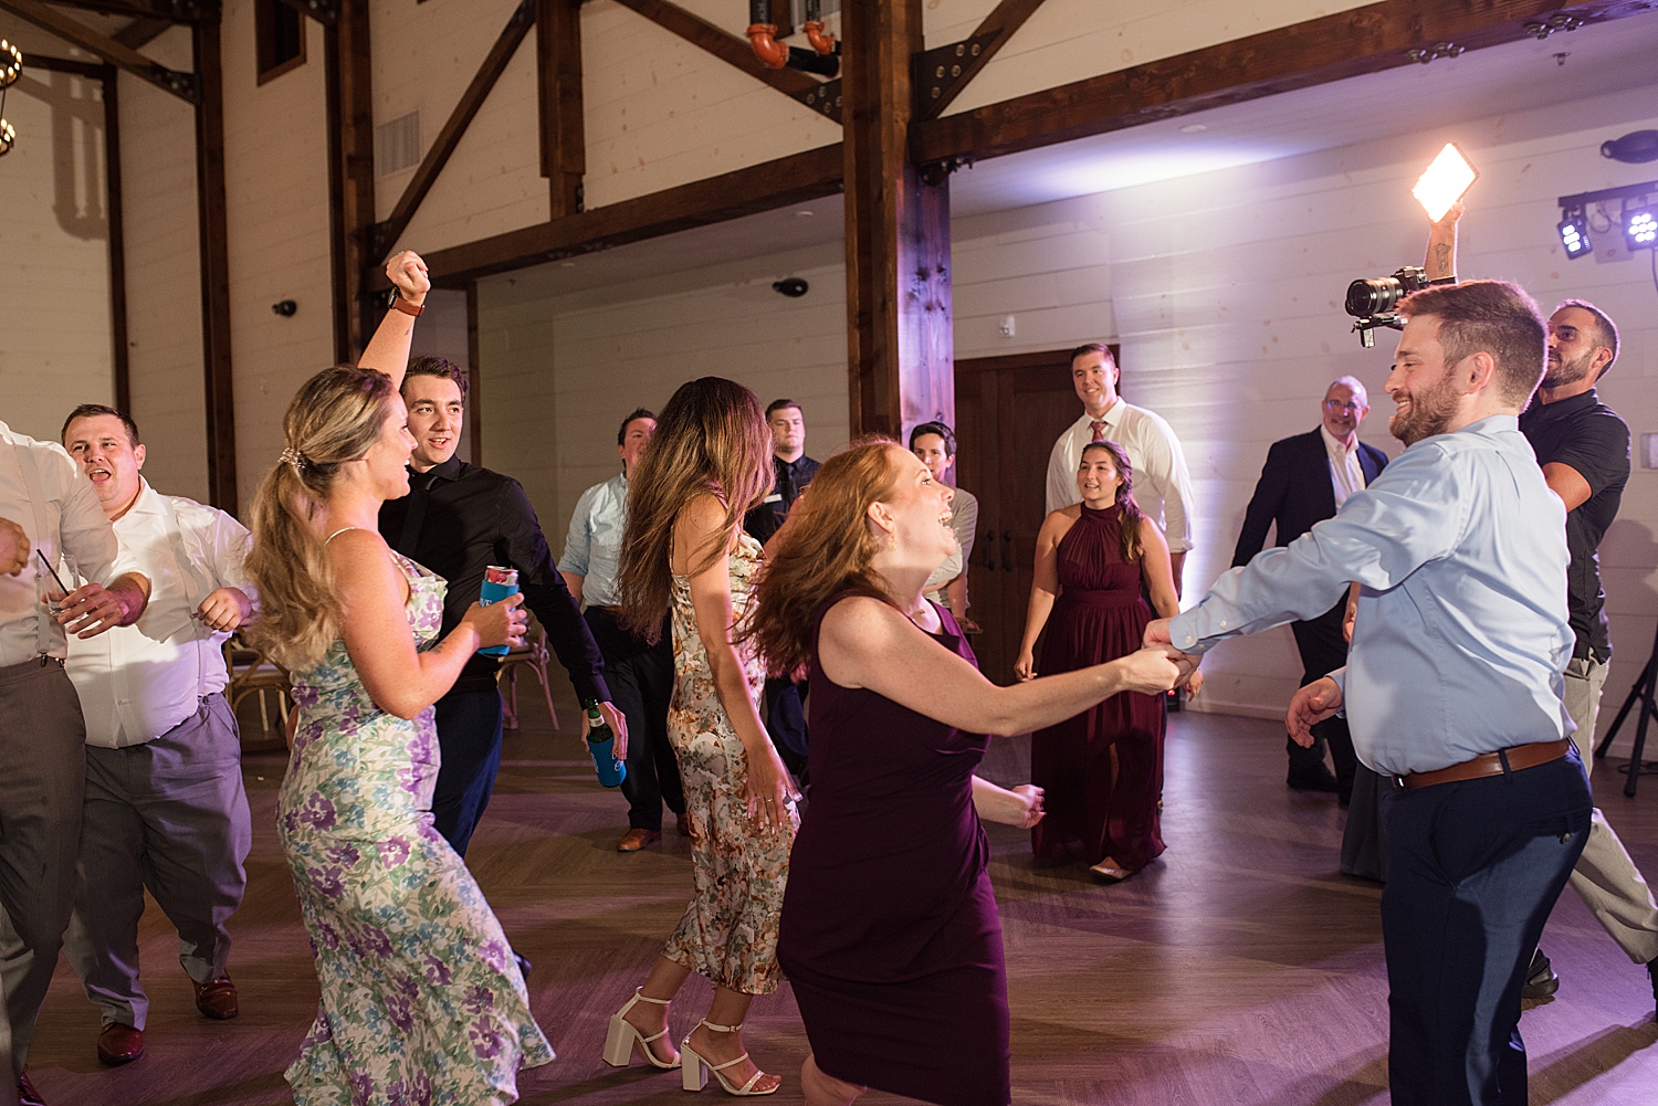
POLYGON ((1000 158, 1481 50, 1549 33, 1550 18, 1603 23, 1658 10, 1658 0, 1386 0, 1189 53, 928 119, 922 163, 1000 158))

